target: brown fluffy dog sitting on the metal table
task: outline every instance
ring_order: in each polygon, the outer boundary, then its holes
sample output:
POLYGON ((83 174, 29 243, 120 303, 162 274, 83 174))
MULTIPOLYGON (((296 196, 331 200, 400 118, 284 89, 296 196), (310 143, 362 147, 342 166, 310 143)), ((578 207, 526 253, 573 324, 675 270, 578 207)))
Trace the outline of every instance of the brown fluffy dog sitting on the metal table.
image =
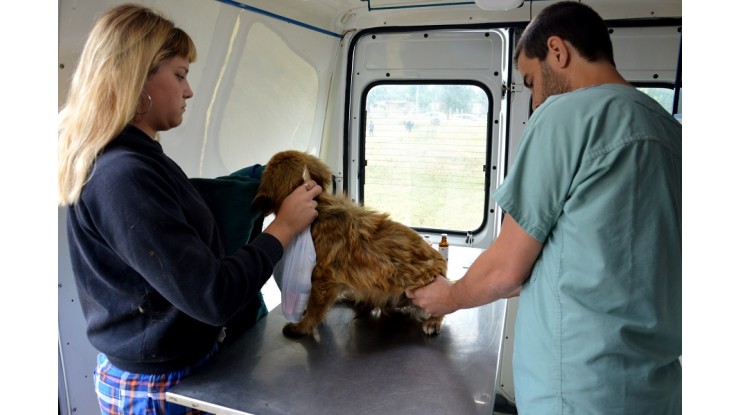
POLYGON ((273 213, 303 183, 305 169, 324 189, 317 199, 319 216, 311 225, 316 266, 303 318, 286 324, 283 334, 312 335, 340 297, 354 300, 364 312, 411 311, 425 333, 439 333, 442 317, 424 313, 404 291, 446 276, 447 262, 413 229, 330 194, 331 170, 321 160, 300 151, 275 154, 262 173, 256 206, 266 215, 273 213))

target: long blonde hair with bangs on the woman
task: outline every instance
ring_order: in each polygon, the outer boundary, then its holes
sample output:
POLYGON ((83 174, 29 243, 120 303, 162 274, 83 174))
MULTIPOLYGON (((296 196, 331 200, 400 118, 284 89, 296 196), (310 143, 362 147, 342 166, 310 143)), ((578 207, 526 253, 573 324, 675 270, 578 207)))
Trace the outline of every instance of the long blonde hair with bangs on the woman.
POLYGON ((147 76, 174 56, 195 61, 195 44, 152 9, 123 4, 98 19, 59 112, 60 206, 77 202, 95 158, 136 114, 147 76))

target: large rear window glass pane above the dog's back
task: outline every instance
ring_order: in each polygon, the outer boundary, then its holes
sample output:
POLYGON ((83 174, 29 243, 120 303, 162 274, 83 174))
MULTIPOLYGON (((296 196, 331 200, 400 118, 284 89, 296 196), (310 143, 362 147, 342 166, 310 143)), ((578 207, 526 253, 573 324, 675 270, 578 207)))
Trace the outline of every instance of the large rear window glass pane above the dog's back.
POLYGON ((364 205, 417 229, 480 228, 490 102, 474 84, 371 86, 364 101, 364 205))

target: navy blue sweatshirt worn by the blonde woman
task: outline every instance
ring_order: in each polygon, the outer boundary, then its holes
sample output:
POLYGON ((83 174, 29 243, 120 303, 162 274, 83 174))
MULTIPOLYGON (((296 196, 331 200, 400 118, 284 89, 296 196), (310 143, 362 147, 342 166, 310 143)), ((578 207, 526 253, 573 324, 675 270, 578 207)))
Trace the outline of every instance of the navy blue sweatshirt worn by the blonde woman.
POLYGON ((206 202, 162 146, 128 126, 98 156, 67 237, 87 336, 135 373, 205 357, 282 257, 262 233, 225 257, 206 202))

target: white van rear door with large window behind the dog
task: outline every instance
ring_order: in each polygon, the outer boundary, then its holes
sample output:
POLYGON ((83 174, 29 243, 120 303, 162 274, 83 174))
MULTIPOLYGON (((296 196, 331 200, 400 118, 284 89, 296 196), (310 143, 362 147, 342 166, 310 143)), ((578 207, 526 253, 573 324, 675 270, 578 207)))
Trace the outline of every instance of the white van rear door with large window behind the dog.
POLYGON ((348 194, 420 232, 488 246, 503 178, 509 34, 497 28, 360 32, 349 54, 348 194))

